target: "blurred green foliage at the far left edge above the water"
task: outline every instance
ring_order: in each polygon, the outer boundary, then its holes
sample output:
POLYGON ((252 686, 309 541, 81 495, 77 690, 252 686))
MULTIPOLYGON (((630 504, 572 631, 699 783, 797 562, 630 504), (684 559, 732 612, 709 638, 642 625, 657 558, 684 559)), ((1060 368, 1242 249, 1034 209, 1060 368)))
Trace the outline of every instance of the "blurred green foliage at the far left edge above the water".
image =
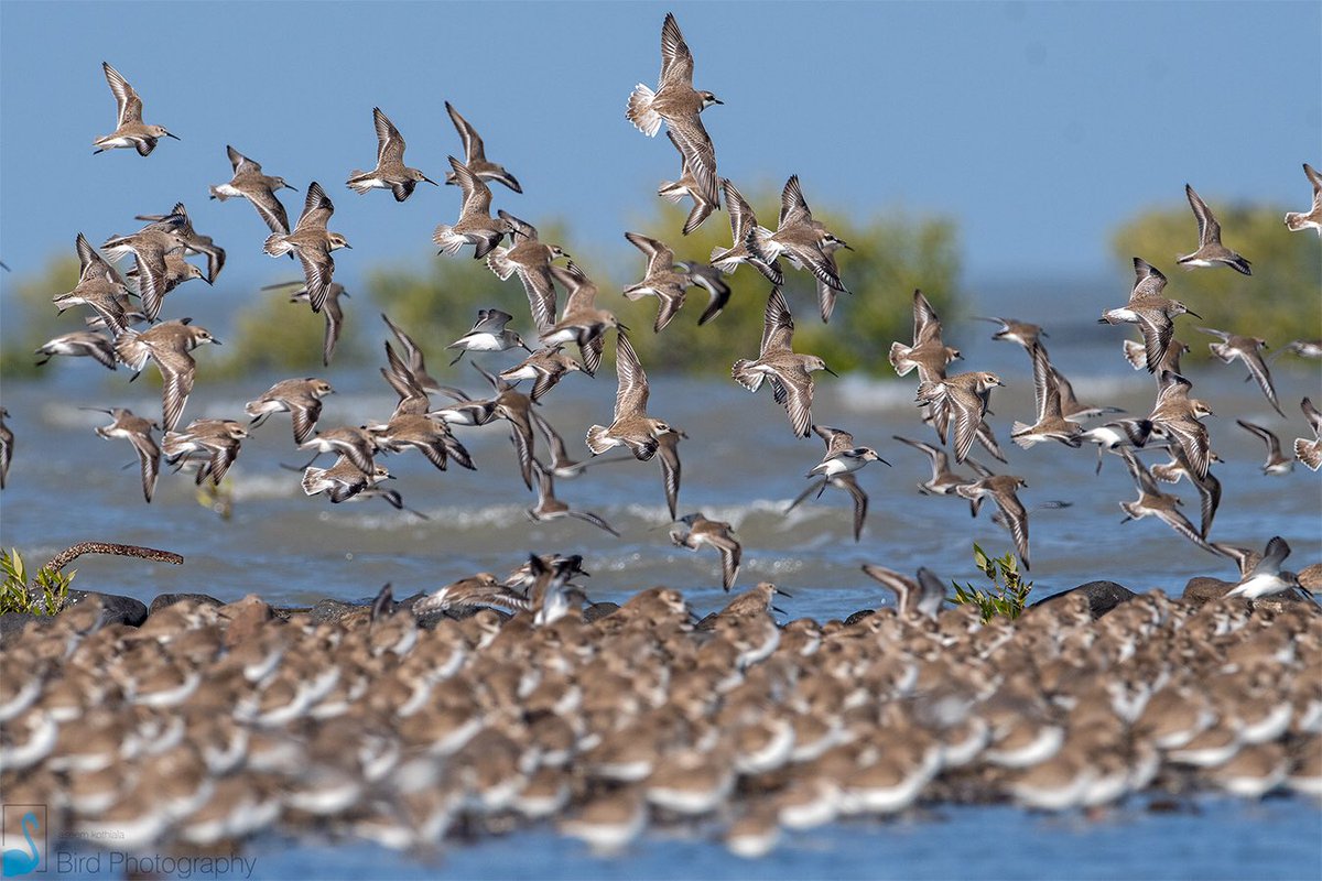
MULTIPOLYGON (((7 279, 8 281, 8 279, 7 279)), ((37 367, 33 351, 53 337, 83 329, 83 316, 90 309, 70 309, 59 314, 52 299, 67 293, 78 284, 78 258, 70 247, 52 258, 40 275, 24 275, 5 285, 3 302, 4 346, 0 350, 0 374, 5 379, 32 379, 45 369, 37 367)))

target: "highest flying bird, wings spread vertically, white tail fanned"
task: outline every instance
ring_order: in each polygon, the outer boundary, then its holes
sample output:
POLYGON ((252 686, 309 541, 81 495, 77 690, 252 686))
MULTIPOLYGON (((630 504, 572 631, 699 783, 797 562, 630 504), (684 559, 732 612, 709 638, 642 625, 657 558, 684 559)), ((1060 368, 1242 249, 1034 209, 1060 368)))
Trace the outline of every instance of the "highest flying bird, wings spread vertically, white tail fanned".
POLYGON ((661 25, 661 75, 652 91, 642 83, 633 87, 625 118, 635 128, 654 137, 662 120, 676 132, 676 148, 683 156, 703 198, 717 202, 717 152, 699 114, 713 104, 723 103, 710 91, 693 87, 693 53, 680 33, 673 13, 666 13, 661 25))

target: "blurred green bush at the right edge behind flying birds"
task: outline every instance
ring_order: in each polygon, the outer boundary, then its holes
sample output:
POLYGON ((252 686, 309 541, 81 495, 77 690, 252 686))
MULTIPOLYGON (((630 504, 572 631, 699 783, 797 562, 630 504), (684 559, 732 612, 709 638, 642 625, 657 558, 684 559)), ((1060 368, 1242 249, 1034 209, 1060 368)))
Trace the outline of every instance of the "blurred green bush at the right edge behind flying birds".
MULTIPOLYGON (((1306 188, 1300 176, 1301 202, 1306 188)), ((1178 193, 1178 190, 1177 190, 1178 193)), ((1140 256, 1155 265, 1170 284, 1166 296, 1181 300, 1199 313, 1177 318, 1175 335, 1191 349, 1188 357, 1207 358, 1215 338, 1196 328, 1263 337, 1281 346, 1300 337, 1314 337, 1322 326, 1322 248, 1313 232, 1290 232, 1285 210, 1273 205, 1229 205, 1215 193, 1200 193, 1222 225, 1222 244, 1243 254, 1253 264, 1245 276, 1228 267, 1198 268, 1186 272, 1175 263, 1178 255, 1198 247, 1198 222, 1188 203, 1179 197, 1124 223, 1112 236, 1117 267, 1124 265, 1124 284, 1117 284, 1116 305, 1133 284, 1130 259, 1140 256)), ((1301 207, 1301 206, 1296 206, 1301 207)))

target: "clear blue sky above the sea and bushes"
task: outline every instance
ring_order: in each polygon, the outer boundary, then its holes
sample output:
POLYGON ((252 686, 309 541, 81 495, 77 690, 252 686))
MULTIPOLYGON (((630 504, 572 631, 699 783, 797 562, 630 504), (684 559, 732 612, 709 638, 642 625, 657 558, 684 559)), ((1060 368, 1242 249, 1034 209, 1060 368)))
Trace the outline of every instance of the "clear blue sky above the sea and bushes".
POLYGON ((1112 272, 1110 230, 1181 203, 1186 181, 1214 209, 1306 209, 1300 164, 1322 164, 1318 3, 5 0, 0 258, 34 271, 71 254, 79 231, 99 244, 182 199, 229 248, 230 284, 287 276, 260 254, 250 206, 206 198, 230 177, 229 143, 299 186, 283 193, 292 217, 323 182, 332 229, 354 244, 338 280, 440 259, 431 230, 456 217, 455 188, 423 185, 397 205, 344 181, 374 161, 377 104, 408 162, 440 177, 447 153, 461 155, 449 99, 524 184, 524 195, 496 188, 497 207, 564 217, 571 251, 590 242, 633 259, 621 232, 678 169, 664 136, 624 119, 632 86, 656 82, 666 11, 698 87, 726 102, 703 115, 723 176, 748 192, 798 173, 812 203, 863 217, 951 215, 966 283, 1112 272), (145 160, 91 155, 114 128, 102 59, 181 141, 145 160))

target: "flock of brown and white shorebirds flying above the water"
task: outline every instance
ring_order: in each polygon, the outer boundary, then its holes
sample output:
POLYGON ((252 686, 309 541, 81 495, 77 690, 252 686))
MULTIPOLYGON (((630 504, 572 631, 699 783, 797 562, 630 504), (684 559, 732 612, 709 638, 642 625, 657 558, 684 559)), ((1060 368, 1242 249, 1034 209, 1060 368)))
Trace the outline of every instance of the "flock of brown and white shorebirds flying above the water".
MULTIPOLYGON (((681 157, 681 173, 678 181, 665 182, 658 193, 676 201, 693 201, 693 211, 682 232, 697 229, 723 202, 730 217, 732 240, 728 248, 714 250, 710 262, 677 262, 676 251, 664 242, 627 232, 627 239, 648 262, 642 280, 627 287, 623 293, 632 300, 648 296, 657 299, 653 330, 661 333, 678 313, 686 292, 693 287, 703 288, 710 296, 710 305, 699 325, 719 316, 731 295, 724 276, 735 272, 740 264, 754 267, 771 283, 758 354, 735 361, 731 375, 751 392, 759 391, 763 384, 771 386, 773 398, 784 407, 796 436, 808 437, 810 432, 816 432, 822 437, 826 442, 825 456, 808 474, 813 483, 791 507, 814 490, 820 495, 828 486, 845 491, 854 505, 853 531, 857 540, 867 514, 867 494, 858 483, 858 470, 871 461, 884 460, 875 449, 855 445, 847 431, 813 421, 812 374, 818 370, 832 371, 822 358, 795 351, 795 322, 781 293, 784 259, 791 267, 813 276, 820 316, 822 321, 829 321, 837 295, 846 291, 836 254, 841 248, 849 248, 849 244, 813 218, 797 176, 792 176, 785 184, 776 229, 761 226, 735 185, 718 177, 715 148, 701 114, 720 100, 709 91, 694 88, 693 55, 673 15, 666 16, 661 29, 661 58, 656 90, 639 85, 629 96, 627 118, 649 136, 656 135, 662 123, 666 125, 670 141, 681 157)), ((143 123, 143 103, 137 92, 114 67, 108 63, 103 66, 118 104, 118 124, 115 132, 94 141, 97 152, 134 147, 140 155, 148 156, 159 139, 175 137, 160 125, 143 123)), ((629 342, 627 328, 611 309, 599 305, 598 287, 559 246, 541 242, 534 226, 504 209, 492 215, 489 182, 498 182, 514 193, 521 193, 522 186, 504 166, 486 159, 481 137, 448 102, 446 108, 463 140, 464 161, 449 157, 451 172, 444 182, 459 186, 463 202, 459 218, 453 223, 439 225, 432 239, 447 255, 457 254, 471 244, 475 258, 484 258, 500 279, 517 276, 527 296, 537 333, 538 345, 534 349, 509 328, 514 321, 513 314, 489 308, 479 312, 477 322, 468 334, 449 343, 448 349, 457 350, 455 361, 469 351, 501 353, 521 349, 527 354, 521 363, 498 375, 479 367, 490 383, 489 395, 475 396, 438 382, 427 372, 423 350, 416 341, 387 316, 382 316, 395 341, 395 345, 386 342, 387 366, 382 369, 382 375, 399 398, 389 417, 357 427, 320 428, 323 399, 333 391, 332 386, 319 378, 292 378, 275 383, 247 404, 247 415, 251 417, 249 425, 235 419, 196 419, 181 427, 197 370, 190 353, 204 343, 219 345, 219 341, 189 318, 163 321, 163 304, 167 295, 189 280, 214 283, 226 259, 223 248, 210 236, 196 231, 182 202, 164 215, 139 215, 148 222, 147 226, 132 235, 108 239, 102 251, 94 248, 86 236, 78 235, 79 281, 73 291, 54 297, 54 302, 61 312, 81 305, 94 314, 87 318, 87 329, 50 339, 41 346, 40 354, 46 361, 54 355, 89 355, 112 370, 119 363, 134 371, 144 370, 148 362, 157 366, 164 380, 160 420, 135 415, 126 408, 110 408, 106 412, 112 417, 111 424, 97 429, 103 437, 124 439, 134 445, 141 464, 143 495, 148 502, 152 499, 163 458, 176 469, 192 468, 197 483, 210 481, 218 486, 239 454, 250 429, 270 415, 287 411, 292 415, 293 440, 300 449, 317 456, 333 453, 337 457, 329 468, 319 468, 312 462, 305 466, 301 485, 307 494, 324 493, 332 502, 377 495, 403 509, 399 491, 382 486, 391 474, 378 461, 378 456, 411 448, 438 469, 446 469, 449 462, 472 469, 472 458, 455 432, 492 420, 505 420, 510 425, 517 450, 520 476, 529 490, 534 486, 537 489, 538 503, 530 510, 533 519, 572 516, 617 534, 598 514, 574 510, 555 498, 555 479, 576 477, 587 465, 603 460, 572 460, 559 432, 538 412, 541 408, 535 407, 545 403, 551 388, 570 372, 595 375, 613 330, 619 382, 615 411, 609 424, 596 424, 587 429, 587 446, 594 457, 620 446, 640 461, 656 458, 661 462, 666 506, 676 523, 672 539, 693 549, 703 546, 715 548, 722 557, 722 584, 728 590, 739 571, 738 539, 730 524, 710 520, 701 512, 677 519, 681 476, 678 444, 686 433, 648 412, 649 382, 629 342), (206 269, 189 263, 186 258, 190 255, 204 255, 206 269), (134 267, 122 276, 115 264, 126 256, 134 258, 134 267), (561 259, 566 263, 557 263, 561 259), (559 302, 561 289, 564 292, 563 304, 559 302), (131 296, 137 297, 136 305, 131 296), (576 346, 578 359, 566 351, 570 343, 576 346), (518 388, 525 380, 531 380, 527 392, 518 388), (436 395, 444 396, 448 403, 438 405, 432 402, 436 395), (156 429, 164 432, 160 441, 153 435, 156 429), (541 450, 537 433, 546 440, 541 450)), ((403 137, 379 107, 373 108, 373 122, 378 144, 377 165, 370 172, 356 169, 346 181, 350 189, 360 194, 385 189, 402 202, 420 182, 438 185, 438 181, 423 172, 405 165, 403 137)), ((301 263, 304 281, 293 299, 305 300, 312 312, 325 316, 323 362, 329 365, 344 322, 340 297, 348 296, 342 285, 333 280, 333 252, 350 247, 344 235, 328 229, 334 206, 321 185, 313 181, 307 188, 303 213, 291 229, 278 193, 293 188, 282 177, 266 174, 260 164, 233 147, 226 151, 234 174, 227 184, 210 188, 212 198, 245 198, 251 202, 270 227, 263 251, 271 256, 291 255, 301 263)), ((1313 229, 1322 232, 1322 176, 1307 164, 1303 169, 1313 184, 1313 207, 1309 213, 1288 214, 1285 223, 1290 230, 1313 229)), ((1185 192, 1198 221, 1199 239, 1198 248, 1181 256, 1178 263, 1188 268, 1228 267, 1251 275, 1249 262, 1222 243, 1220 225, 1207 203, 1191 186, 1186 185, 1185 192)), ((1187 346, 1175 338, 1174 325, 1178 316, 1188 313, 1196 317, 1196 313, 1183 302, 1165 296, 1167 279, 1157 267, 1136 258, 1134 272, 1136 281, 1128 302, 1108 309, 1101 321, 1112 325, 1134 324, 1140 329, 1142 342, 1126 341, 1125 357, 1136 369, 1146 367, 1157 378, 1157 399, 1151 412, 1146 417, 1117 417, 1087 427, 1088 420, 1110 416, 1117 411, 1087 405, 1075 398, 1068 379, 1051 363, 1042 341, 1046 334, 1039 326, 1013 318, 993 318, 1001 325, 994 338, 1023 346, 1032 366, 1035 417, 1031 424, 1015 421, 1010 439, 1025 448, 1046 441, 1069 446, 1080 446, 1084 441, 1096 444, 1099 469, 1103 452, 1122 456, 1140 494, 1137 501, 1124 503, 1128 518, 1157 516, 1204 549, 1245 560, 1243 549, 1207 540, 1220 498, 1220 485, 1210 468, 1216 461, 1216 454, 1199 421, 1211 413, 1211 408, 1191 396, 1192 384, 1181 374, 1179 357, 1187 351, 1187 346), (1170 461, 1147 466, 1134 453, 1142 448, 1166 449, 1170 461), (1194 483, 1202 499, 1202 519, 1196 527, 1177 507, 1175 497, 1163 493, 1159 486, 1161 482, 1185 478, 1194 483)), ((1200 332, 1219 338, 1219 342, 1211 343, 1211 351, 1218 358, 1227 363, 1239 358, 1248 367, 1272 407, 1284 416, 1268 362, 1261 354, 1265 341, 1212 328, 1203 328, 1200 332)), ((1285 350, 1315 358, 1322 355, 1322 343, 1297 341, 1285 350)), ((941 338, 941 322, 936 312, 923 293, 915 291, 914 339, 911 343, 895 342, 890 361, 900 376, 917 371, 916 399, 924 408, 924 421, 935 428, 940 446, 903 436, 896 436, 896 440, 931 457, 933 476, 923 485, 924 491, 965 498, 974 515, 984 501, 995 502, 999 509, 998 519, 1010 530, 1017 552, 1025 568, 1029 568, 1029 514, 1017 495, 1025 481, 1011 474, 995 474, 969 457, 974 444, 978 444, 994 458, 1005 461, 986 420, 992 392, 1005 383, 988 371, 948 374, 948 366, 958 358, 958 350, 941 338), (948 440, 956 464, 968 462, 976 469, 974 476, 951 470, 945 452, 948 440)), ((1302 400, 1301 408, 1313 437, 1294 441, 1293 458, 1282 454, 1281 442, 1269 428, 1240 420, 1247 431, 1265 441, 1269 453, 1264 466, 1266 473, 1285 473, 1296 458, 1314 470, 1322 464, 1319 413, 1307 398, 1302 400)), ((8 472, 13 449, 8 428, 3 428, 3 440, 0 478, 8 472)), ((1247 576, 1248 571, 1243 575, 1247 576)))

